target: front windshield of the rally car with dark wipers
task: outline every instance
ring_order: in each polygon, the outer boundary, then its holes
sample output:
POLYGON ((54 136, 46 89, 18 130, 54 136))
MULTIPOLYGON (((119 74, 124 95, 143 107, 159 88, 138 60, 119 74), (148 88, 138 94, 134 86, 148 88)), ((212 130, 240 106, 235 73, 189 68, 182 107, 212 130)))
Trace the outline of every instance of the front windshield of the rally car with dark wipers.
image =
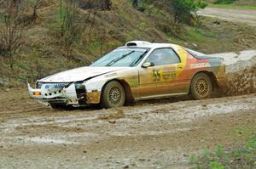
POLYGON ((133 67, 139 64, 147 52, 147 48, 117 48, 90 66, 133 67))

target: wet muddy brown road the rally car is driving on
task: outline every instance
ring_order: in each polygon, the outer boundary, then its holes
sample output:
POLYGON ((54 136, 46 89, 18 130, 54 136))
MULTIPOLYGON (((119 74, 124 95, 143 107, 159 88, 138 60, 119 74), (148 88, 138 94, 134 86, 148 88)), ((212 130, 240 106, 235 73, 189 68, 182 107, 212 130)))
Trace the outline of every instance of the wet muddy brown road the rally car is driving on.
POLYGON ((241 128, 256 124, 256 51, 214 55, 230 77, 220 93, 244 95, 60 111, 26 88, 0 89, 0 168, 191 168, 201 149, 244 144, 241 128))

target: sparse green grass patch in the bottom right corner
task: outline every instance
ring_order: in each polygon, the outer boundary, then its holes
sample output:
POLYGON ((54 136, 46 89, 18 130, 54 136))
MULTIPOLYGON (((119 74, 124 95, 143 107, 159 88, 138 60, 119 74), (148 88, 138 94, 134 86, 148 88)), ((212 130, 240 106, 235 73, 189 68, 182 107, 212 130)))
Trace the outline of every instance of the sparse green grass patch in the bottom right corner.
POLYGON ((190 163, 195 164, 197 169, 256 168, 256 127, 237 127, 234 132, 242 137, 250 137, 247 144, 232 150, 218 144, 215 150, 204 149, 201 155, 191 155, 190 163))

